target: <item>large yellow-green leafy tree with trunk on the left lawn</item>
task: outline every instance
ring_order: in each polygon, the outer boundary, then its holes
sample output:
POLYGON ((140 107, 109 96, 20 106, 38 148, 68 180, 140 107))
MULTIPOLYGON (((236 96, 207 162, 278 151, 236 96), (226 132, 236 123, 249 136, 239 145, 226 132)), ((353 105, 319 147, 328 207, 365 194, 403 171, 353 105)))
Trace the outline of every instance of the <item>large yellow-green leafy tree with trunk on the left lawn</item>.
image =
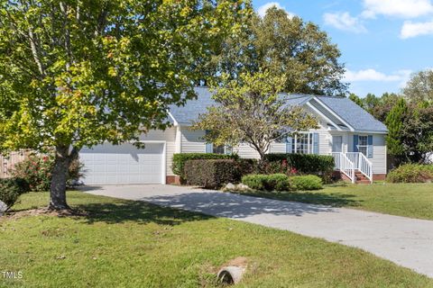
POLYGON ((54 148, 49 207, 68 209, 66 175, 80 148, 166 128, 168 105, 195 96, 197 67, 239 30, 248 6, 0 0, 0 148, 54 148))

